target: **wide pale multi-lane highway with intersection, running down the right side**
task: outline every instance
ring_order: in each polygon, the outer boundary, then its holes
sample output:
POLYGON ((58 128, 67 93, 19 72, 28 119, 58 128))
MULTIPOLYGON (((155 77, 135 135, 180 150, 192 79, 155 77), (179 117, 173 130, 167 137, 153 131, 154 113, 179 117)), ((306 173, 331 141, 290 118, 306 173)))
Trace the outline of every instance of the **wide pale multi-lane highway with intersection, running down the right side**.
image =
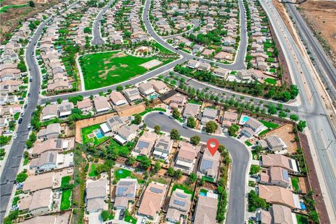
POLYGON ((332 216, 336 214, 336 135, 333 130, 331 121, 328 118, 328 112, 323 106, 321 96, 318 94, 318 89, 311 76, 311 71, 307 66, 304 57, 293 41, 286 25, 281 19, 272 1, 260 1, 265 9, 269 20, 272 22, 276 36, 281 44, 281 48, 285 54, 290 73, 293 76, 296 85, 300 89, 302 105, 298 107, 298 113, 301 119, 307 120, 307 127, 311 133, 311 138, 316 149, 318 163, 321 166, 323 176, 319 179, 321 189, 326 186, 328 195, 324 195, 326 207, 331 211, 328 215, 333 220, 332 216), (302 76, 300 76, 302 72, 302 76), (305 88, 307 85, 308 90, 305 88), (314 92, 316 94, 314 94, 314 92), (326 150, 328 145, 330 148, 326 150), (324 179, 324 180, 323 180, 324 179), (328 207, 328 200, 331 201, 332 208, 328 207), (333 211, 333 214, 332 214, 333 211))

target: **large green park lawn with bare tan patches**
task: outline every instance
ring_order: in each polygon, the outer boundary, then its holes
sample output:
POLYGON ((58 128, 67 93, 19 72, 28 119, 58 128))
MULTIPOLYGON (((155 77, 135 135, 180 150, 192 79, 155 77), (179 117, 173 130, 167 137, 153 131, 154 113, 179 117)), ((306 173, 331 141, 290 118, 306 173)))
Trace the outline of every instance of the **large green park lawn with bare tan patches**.
MULTIPOLYGON (((101 52, 83 55, 79 58, 80 68, 83 72, 85 90, 94 90, 142 75, 148 71, 140 64, 144 64, 157 57, 115 57, 118 52, 101 52)), ((172 59, 162 60, 167 64, 172 59)))

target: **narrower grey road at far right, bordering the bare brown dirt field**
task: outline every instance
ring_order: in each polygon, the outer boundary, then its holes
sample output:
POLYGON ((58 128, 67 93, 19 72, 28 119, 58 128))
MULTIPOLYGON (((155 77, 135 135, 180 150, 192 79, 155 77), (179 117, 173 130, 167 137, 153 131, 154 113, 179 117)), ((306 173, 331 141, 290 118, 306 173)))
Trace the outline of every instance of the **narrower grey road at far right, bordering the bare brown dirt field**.
POLYGON ((336 94, 336 69, 332 66, 332 62, 330 61, 329 57, 325 54, 321 44, 318 40, 314 37, 311 29, 307 26, 306 22, 297 11, 293 4, 287 4, 290 15, 293 16, 295 20, 295 24, 297 28, 300 30, 302 34, 302 38, 306 41, 307 46, 313 55, 315 62, 318 65, 319 70, 323 73, 323 76, 329 80, 328 85, 332 89, 332 94, 336 94))

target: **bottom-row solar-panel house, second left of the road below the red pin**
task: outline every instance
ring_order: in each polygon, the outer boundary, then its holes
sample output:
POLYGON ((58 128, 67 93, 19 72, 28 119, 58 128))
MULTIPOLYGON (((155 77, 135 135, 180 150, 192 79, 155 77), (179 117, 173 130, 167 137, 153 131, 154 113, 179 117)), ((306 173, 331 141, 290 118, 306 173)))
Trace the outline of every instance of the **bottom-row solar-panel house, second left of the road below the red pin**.
POLYGON ((170 197, 166 220, 171 223, 185 223, 191 205, 191 195, 176 189, 170 197))

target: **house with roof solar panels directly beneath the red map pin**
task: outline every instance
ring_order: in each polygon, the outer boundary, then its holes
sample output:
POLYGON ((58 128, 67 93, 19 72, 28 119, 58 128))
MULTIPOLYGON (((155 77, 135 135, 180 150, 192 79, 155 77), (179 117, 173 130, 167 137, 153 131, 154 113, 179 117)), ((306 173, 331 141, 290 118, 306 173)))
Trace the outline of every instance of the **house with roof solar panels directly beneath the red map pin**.
POLYGON ((202 156, 201 165, 198 169, 198 176, 207 176, 209 179, 216 181, 220 166, 221 154, 216 153, 211 155, 209 150, 205 150, 202 156))

